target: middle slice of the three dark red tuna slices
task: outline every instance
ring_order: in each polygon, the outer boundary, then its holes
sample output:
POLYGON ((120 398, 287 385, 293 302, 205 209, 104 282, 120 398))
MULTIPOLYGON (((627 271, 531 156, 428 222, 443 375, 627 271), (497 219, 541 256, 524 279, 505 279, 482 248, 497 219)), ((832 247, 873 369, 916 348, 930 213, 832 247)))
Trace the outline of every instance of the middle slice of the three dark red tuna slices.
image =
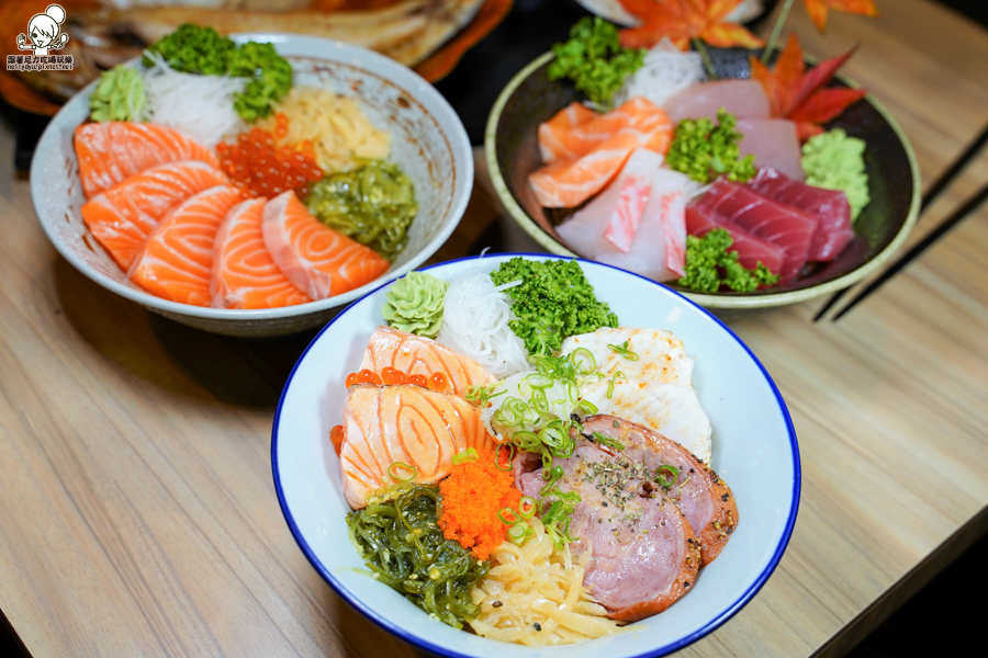
MULTIPOLYGON (((799 274, 809 256, 809 246, 817 230, 817 219, 799 208, 765 198, 727 179, 718 179, 697 203, 697 207, 716 213, 785 252, 781 283, 799 274)), ((767 265, 766 265, 767 266, 767 265)))

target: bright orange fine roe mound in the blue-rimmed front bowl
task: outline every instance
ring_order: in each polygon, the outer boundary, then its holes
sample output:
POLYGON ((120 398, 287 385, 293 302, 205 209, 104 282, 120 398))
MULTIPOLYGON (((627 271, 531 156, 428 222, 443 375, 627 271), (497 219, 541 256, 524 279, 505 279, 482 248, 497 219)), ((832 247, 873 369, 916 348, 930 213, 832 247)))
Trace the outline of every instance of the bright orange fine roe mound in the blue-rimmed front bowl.
MULTIPOLYGON (((498 510, 517 510, 521 491, 514 487, 509 470, 494 465, 493 452, 478 451, 478 457, 454 465, 449 477, 439 483, 439 527, 447 540, 471 548, 474 557, 483 560, 505 538, 508 526, 497 518, 498 510)), ((506 457, 502 454, 504 462, 506 457)))

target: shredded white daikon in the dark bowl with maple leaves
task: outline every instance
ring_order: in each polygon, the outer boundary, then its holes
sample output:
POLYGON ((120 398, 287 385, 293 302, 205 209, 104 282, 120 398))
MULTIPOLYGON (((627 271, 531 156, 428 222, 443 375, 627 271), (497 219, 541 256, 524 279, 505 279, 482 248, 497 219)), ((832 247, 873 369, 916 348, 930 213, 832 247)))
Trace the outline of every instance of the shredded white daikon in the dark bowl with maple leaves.
POLYGON ((641 68, 628 76, 617 92, 619 105, 635 97, 644 97, 659 106, 677 91, 701 82, 706 78, 699 53, 682 53, 669 38, 652 46, 641 68))

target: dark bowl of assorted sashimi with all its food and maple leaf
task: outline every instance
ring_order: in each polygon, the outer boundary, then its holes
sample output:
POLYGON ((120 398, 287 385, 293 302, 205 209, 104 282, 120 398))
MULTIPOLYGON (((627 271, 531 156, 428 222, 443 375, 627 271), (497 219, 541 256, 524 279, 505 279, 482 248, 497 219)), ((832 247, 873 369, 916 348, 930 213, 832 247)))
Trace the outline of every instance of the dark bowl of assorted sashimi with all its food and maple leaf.
POLYGON ((850 285, 906 239, 916 160, 834 79, 852 53, 808 67, 793 36, 774 64, 740 48, 705 61, 627 37, 584 19, 491 113, 495 189, 543 247, 743 308, 850 285))

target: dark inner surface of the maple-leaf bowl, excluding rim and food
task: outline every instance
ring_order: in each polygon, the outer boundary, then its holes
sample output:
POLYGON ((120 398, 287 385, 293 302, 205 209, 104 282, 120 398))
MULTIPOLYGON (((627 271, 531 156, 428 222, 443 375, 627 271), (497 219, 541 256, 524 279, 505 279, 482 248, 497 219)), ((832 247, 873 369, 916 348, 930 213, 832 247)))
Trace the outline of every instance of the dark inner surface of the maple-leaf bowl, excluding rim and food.
MULTIPOLYGON (((750 53, 743 48, 711 48, 710 58, 718 77, 749 78, 750 53)), ((555 211, 547 212, 539 206, 528 185, 528 174, 542 166, 537 140, 539 123, 571 102, 584 100, 569 81, 549 81, 547 66, 535 69, 507 99, 496 127, 495 154, 508 192, 518 205, 553 240, 573 251, 553 228, 560 216, 555 211)), ((839 80, 831 82, 831 86, 846 87, 839 80)), ((811 263, 787 285, 744 296, 808 288, 857 270, 889 246, 912 212, 917 197, 909 147, 868 98, 847 107, 837 120, 827 124, 827 128, 843 128, 867 144, 864 157, 872 202, 854 223, 855 238, 834 261, 811 263)), ((740 296, 741 293, 717 295, 740 296)))

